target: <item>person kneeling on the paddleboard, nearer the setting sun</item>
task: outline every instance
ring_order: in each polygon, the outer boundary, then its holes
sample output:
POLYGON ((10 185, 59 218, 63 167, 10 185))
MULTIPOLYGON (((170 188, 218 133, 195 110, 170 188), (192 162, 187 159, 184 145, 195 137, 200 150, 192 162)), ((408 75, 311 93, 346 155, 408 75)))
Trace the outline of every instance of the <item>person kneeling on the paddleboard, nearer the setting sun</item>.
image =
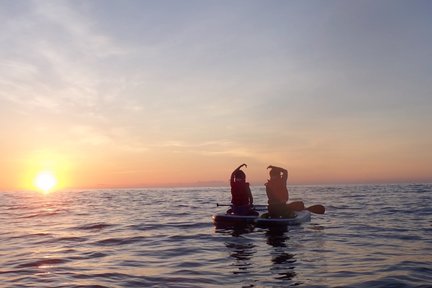
POLYGON ((228 210, 228 213, 236 215, 258 215, 258 212, 253 209, 253 197, 249 183, 246 182, 246 174, 240 170, 243 166, 247 167, 246 164, 242 164, 231 173, 232 208, 228 210))

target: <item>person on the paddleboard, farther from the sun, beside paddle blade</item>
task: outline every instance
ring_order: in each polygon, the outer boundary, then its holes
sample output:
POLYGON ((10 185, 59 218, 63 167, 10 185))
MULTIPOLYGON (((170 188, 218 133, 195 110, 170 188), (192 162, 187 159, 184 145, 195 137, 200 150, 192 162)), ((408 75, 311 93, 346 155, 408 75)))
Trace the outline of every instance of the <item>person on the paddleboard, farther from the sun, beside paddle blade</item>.
POLYGON ((268 213, 271 218, 291 218, 294 211, 304 210, 302 201, 287 204, 289 194, 287 188, 288 171, 281 167, 268 166, 270 179, 265 184, 268 197, 268 213))

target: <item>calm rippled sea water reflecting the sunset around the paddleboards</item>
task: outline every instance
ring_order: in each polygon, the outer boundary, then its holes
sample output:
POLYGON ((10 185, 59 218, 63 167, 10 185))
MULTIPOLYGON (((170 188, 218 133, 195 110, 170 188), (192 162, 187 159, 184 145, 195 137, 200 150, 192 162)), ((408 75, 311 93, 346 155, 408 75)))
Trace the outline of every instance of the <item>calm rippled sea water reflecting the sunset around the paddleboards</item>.
POLYGON ((431 184, 290 186, 327 213, 283 230, 216 229, 229 194, 2 192, 0 287, 432 287, 431 184))

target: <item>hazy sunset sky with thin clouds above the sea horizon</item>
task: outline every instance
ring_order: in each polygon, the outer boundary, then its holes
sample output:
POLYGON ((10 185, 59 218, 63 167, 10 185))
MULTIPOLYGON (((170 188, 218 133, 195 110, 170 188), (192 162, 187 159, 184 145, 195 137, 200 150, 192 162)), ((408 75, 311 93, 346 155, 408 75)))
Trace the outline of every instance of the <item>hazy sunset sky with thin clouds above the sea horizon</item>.
POLYGON ((430 11, 0 0, 0 189, 431 182, 430 11))

